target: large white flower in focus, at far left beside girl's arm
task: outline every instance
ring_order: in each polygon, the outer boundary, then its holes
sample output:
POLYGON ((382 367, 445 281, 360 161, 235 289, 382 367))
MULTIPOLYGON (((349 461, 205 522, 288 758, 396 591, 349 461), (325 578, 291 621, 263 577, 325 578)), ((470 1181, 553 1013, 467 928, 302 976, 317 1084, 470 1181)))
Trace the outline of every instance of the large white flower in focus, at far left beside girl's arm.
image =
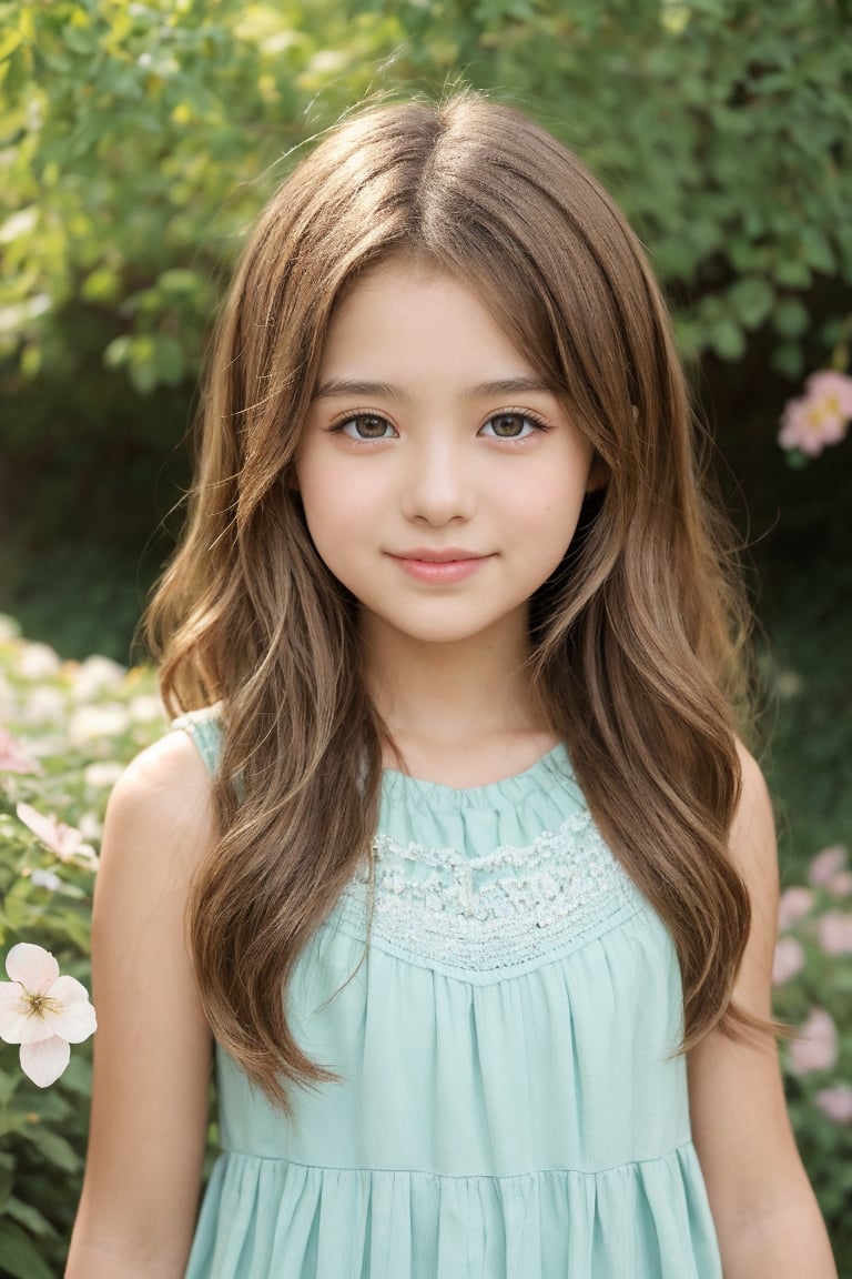
POLYGON ((54 1083, 69 1063, 70 1044, 97 1028, 88 993, 42 946, 27 941, 6 955, 10 981, 0 981, 0 1039, 20 1044, 20 1069, 40 1088, 54 1083))

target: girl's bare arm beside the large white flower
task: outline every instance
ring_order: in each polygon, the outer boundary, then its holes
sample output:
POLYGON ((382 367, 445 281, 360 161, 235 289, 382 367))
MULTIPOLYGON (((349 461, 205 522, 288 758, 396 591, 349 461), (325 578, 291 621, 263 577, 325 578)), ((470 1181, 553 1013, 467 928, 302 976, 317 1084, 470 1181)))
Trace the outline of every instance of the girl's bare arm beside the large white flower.
POLYGON ((66 1279, 179 1279, 198 1207, 211 1036, 184 912, 212 838, 184 733, 143 752, 110 799, 95 893, 92 1123, 66 1279))

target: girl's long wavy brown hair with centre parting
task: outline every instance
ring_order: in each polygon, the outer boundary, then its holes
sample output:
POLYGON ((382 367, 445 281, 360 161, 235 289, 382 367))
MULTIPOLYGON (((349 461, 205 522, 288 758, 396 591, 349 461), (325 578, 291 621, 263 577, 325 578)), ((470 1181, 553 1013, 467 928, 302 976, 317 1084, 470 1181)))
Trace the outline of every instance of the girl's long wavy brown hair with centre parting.
POLYGON ((188 906, 206 1013, 285 1108, 287 1085, 333 1077, 296 1042, 282 991, 370 857, 383 732, 294 455, 335 303, 400 253, 478 294, 595 450, 604 490, 533 600, 531 679, 673 938, 682 1046, 750 1023, 731 999, 750 911, 727 847, 747 614, 653 274, 609 196, 524 115, 473 92, 382 106, 323 138, 245 247, 186 533, 147 614, 167 707, 221 701, 226 725, 218 838, 188 906))

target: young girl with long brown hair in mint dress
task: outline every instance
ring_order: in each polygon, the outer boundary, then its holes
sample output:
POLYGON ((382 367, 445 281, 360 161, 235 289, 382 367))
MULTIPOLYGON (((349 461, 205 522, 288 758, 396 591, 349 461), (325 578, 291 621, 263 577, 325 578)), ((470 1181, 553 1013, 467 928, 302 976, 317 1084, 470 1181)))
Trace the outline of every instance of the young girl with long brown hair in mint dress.
POLYGON ((611 200, 474 95, 350 119, 258 224, 202 417, 70 1279, 833 1275, 738 593, 611 200))

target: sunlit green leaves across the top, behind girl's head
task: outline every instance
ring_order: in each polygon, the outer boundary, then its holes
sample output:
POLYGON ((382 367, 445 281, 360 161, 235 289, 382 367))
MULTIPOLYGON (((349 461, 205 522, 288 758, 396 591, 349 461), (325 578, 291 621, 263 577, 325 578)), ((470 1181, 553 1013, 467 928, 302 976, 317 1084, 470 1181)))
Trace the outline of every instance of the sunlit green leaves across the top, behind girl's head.
POLYGON ((815 286, 852 280, 849 29, 830 0, 6 0, 0 17, 0 339, 26 376, 74 366, 82 307, 137 393, 180 385, 281 155, 367 93, 460 74, 616 188, 687 350, 736 361, 766 331, 797 376, 834 317, 815 286))

